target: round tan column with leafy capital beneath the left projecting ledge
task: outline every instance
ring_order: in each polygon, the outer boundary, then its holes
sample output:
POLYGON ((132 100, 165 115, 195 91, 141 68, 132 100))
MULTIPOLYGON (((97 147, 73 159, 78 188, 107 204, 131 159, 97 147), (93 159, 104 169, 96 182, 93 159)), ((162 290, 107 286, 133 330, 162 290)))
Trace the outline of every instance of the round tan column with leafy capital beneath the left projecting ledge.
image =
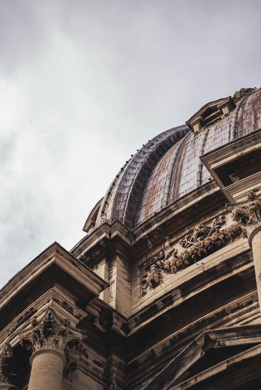
POLYGON ((67 351, 77 346, 84 332, 61 319, 48 308, 41 324, 34 317, 30 333, 20 335, 20 342, 33 352, 32 371, 28 390, 62 390, 63 369, 67 364, 67 351))

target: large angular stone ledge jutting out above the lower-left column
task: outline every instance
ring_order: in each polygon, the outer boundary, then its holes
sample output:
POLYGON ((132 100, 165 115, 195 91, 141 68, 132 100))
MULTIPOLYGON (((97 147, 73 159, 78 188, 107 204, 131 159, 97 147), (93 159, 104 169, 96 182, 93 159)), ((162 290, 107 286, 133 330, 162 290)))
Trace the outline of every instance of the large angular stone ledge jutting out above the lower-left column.
POLYGON ((55 242, 0 291, 0 332, 41 296, 57 290, 55 286, 71 294, 77 307, 84 310, 108 283, 55 242))

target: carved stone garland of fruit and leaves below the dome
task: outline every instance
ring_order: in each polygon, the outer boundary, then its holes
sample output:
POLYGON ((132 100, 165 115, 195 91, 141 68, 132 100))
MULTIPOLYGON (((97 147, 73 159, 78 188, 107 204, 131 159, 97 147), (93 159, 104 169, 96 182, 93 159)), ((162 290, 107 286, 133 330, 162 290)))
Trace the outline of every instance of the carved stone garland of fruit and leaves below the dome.
POLYGON ((181 271, 227 245, 242 233, 237 224, 220 230, 224 223, 225 217, 220 215, 218 219, 213 219, 211 225, 198 225, 192 234, 180 240, 180 245, 185 248, 183 251, 178 253, 175 248, 170 248, 167 253, 161 251, 159 255, 146 262, 144 268, 147 272, 141 278, 141 282, 145 284, 142 294, 145 295, 150 288, 159 285, 162 271, 166 273, 181 271))

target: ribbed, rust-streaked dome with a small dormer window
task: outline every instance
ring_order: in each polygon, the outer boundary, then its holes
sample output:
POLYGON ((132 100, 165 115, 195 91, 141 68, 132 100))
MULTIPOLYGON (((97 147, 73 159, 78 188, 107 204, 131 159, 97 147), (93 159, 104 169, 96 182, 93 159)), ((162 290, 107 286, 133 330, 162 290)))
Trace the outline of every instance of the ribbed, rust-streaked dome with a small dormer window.
POLYGON ((91 213, 93 225, 119 220, 135 229, 212 180, 200 156, 260 127, 260 89, 241 89, 206 104, 186 124, 150 140, 121 168, 91 213))

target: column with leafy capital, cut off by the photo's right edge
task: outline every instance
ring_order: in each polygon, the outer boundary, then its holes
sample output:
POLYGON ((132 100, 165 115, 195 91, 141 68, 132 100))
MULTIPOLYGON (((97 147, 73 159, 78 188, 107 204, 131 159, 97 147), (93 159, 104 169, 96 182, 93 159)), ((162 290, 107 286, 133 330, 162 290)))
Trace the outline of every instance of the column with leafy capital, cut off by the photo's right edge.
POLYGON ((248 193, 248 201, 242 203, 227 203, 226 206, 238 222, 249 246, 253 251, 256 273, 257 293, 261 311, 261 199, 256 199, 254 191, 248 193))

